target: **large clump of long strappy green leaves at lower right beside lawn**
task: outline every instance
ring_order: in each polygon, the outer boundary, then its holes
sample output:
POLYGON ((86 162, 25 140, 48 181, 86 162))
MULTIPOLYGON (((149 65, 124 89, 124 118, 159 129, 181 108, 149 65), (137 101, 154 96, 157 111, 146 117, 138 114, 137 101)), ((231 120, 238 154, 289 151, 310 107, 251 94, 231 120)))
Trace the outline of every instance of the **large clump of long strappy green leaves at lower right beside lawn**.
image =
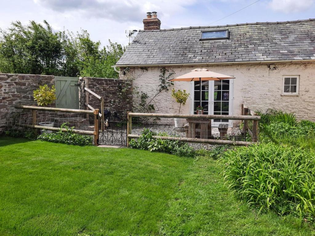
POLYGON ((227 150, 218 163, 233 190, 248 205, 315 217, 315 155, 302 148, 261 143, 227 150))

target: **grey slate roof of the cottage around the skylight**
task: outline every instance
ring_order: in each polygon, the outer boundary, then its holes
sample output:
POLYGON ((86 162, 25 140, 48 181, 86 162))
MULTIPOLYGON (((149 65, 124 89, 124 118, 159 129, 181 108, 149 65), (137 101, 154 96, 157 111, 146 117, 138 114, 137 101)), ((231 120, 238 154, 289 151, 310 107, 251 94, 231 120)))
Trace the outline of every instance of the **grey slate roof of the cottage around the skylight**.
POLYGON ((315 19, 141 30, 123 65, 315 59, 315 19), (227 40, 200 42, 201 31, 228 29, 227 40))

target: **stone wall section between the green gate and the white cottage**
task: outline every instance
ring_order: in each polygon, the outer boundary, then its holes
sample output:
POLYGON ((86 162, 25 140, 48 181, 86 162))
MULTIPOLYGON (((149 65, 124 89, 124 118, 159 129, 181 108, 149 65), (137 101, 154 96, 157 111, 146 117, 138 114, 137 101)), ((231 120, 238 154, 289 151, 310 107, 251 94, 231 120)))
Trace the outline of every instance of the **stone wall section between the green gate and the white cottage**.
MULTIPOLYGON (((104 97, 104 110, 131 111, 132 110, 132 83, 123 79, 80 77, 81 88, 79 90, 79 108, 86 109, 85 81, 88 80, 88 88, 99 96, 104 97)), ((89 94, 89 105, 100 109, 100 100, 89 94)), ((121 115, 126 112, 120 112, 121 115)), ((124 117, 125 118, 125 117, 124 117)))

